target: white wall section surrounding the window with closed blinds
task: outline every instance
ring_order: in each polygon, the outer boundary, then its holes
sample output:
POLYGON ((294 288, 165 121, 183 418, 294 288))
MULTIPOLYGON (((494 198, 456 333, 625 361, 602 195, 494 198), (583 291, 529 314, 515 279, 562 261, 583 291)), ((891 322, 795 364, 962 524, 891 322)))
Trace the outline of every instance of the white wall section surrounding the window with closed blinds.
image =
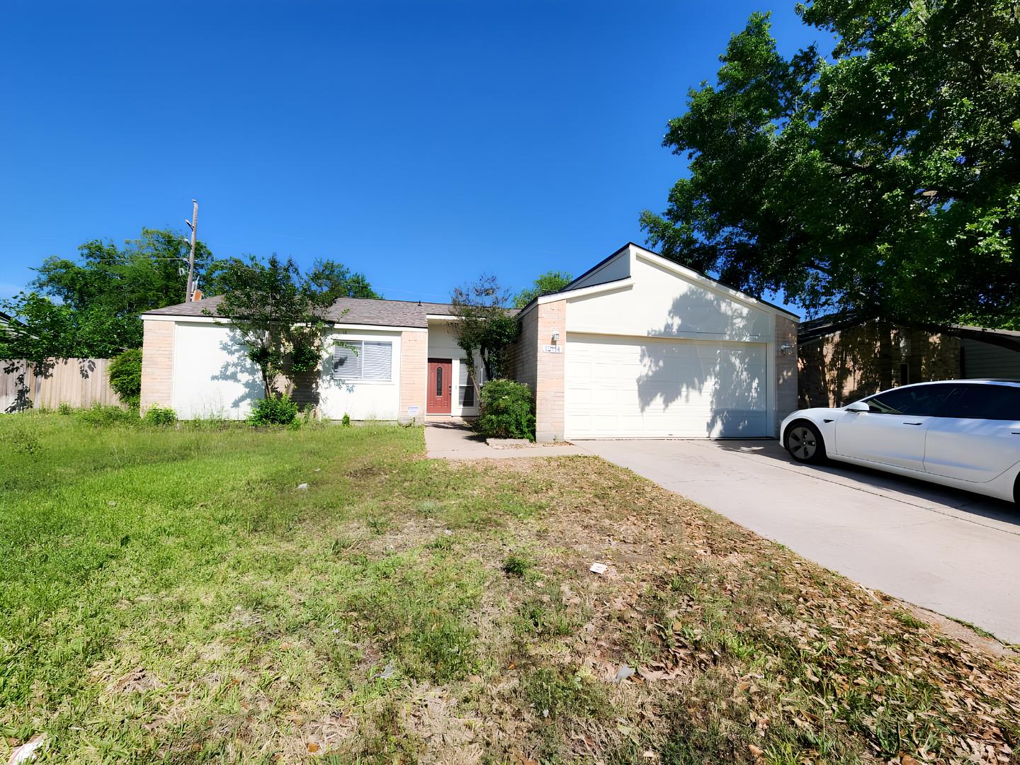
POLYGON ((326 355, 319 382, 319 411, 324 419, 396 420, 400 414, 400 336, 382 329, 345 329, 333 333, 325 343, 326 355), (377 340, 393 343, 392 376, 381 380, 335 380, 333 378, 334 340, 377 340))

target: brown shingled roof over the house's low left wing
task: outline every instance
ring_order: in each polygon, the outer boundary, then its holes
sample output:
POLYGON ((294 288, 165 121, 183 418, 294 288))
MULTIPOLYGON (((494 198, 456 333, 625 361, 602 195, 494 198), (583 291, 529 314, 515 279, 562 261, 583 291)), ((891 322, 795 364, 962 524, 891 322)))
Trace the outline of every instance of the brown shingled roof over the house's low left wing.
MULTIPOLYGON (((227 318, 218 312, 223 296, 203 298, 192 303, 157 308, 146 311, 146 316, 173 316, 180 318, 205 318, 209 314, 219 318, 227 318), (206 313, 209 312, 209 314, 206 313)), ((508 312, 516 313, 509 309, 508 312)), ((416 300, 384 300, 382 298, 338 298, 329 306, 325 321, 341 324, 365 324, 366 326, 414 326, 427 327, 427 316, 451 316, 453 306, 450 303, 421 303, 416 300)))

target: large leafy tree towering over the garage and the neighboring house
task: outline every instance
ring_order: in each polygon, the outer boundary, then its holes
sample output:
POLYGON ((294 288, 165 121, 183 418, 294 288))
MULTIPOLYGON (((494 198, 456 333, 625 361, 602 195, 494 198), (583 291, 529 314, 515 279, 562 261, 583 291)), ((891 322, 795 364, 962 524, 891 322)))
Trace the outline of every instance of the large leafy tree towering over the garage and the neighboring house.
POLYGON ((690 160, 649 242, 809 314, 1020 325, 1020 14, 1013 0, 813 0, 835 38, 778 53, 767 14, 688 95, 690 160))

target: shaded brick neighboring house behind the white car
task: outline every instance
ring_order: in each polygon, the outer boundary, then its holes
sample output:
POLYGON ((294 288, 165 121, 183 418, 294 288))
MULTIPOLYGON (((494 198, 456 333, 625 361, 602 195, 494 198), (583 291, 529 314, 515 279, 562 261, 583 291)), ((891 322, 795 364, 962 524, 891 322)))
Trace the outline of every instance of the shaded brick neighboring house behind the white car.
POLYGON ((798 332, 801 408, 843 406, 873 393, 935 379, 1020 379, 1020 332, 903 326, 837 316, 798 332))

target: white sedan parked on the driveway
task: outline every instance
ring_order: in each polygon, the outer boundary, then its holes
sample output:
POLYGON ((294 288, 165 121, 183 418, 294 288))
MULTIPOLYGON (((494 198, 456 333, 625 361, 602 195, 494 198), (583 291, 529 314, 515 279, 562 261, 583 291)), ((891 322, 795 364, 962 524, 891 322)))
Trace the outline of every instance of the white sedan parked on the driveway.
POLYGON ((852 462, 1020 505, 1020 381, 903 386, 801 409, 779 432, 799 462, 852 462))

